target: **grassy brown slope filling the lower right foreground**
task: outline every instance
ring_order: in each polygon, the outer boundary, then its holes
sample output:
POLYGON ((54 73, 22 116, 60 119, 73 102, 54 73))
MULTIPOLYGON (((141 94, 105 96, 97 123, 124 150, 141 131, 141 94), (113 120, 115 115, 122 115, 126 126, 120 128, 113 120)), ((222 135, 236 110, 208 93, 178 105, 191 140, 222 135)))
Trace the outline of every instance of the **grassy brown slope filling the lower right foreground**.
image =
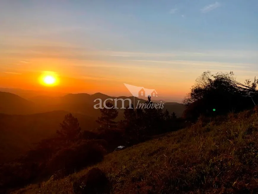
MULTIPOLYGON (((240 113, 220 124, 201 122, 123 151, 96 166, 113 193, 251 193, 258 188, 258 116, 240 113), (137 189, 137 187, 139 189, 137 189)), ((82 170, 58 181, 30 185, 17 193, 72 193, 82 170)), ((257 191, 256 191, 257 192, 257 191)), ((255 192, 255 193, 256 193, 255 192)))

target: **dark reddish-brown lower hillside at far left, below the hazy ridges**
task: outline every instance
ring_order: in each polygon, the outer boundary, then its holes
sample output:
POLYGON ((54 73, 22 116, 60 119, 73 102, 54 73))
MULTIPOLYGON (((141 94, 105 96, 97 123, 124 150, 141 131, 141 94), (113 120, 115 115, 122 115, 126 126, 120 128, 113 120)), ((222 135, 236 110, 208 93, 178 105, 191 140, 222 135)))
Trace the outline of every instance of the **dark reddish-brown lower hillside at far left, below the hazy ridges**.
MULTIPOLYGON (((68 113, 53 111, 31 115, 0 114, 0 163, 22 155, 34 146, 33 143, 55 135, 60 128, 59 124, 68 113)), ((74 115, 82 130, 94 130, 98 126, 92 117, 74 115)))

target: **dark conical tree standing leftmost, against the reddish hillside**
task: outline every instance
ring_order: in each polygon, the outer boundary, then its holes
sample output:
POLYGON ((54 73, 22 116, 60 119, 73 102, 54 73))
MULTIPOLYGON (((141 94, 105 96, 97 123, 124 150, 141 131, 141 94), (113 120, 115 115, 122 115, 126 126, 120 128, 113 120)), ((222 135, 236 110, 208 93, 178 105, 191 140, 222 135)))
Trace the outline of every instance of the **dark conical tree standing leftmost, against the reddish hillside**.
POLYGON ((57 130, 58 136, 66 141, 77 141, 81 135, 81 127, 78 119, 71 113, 67 114, 62 123, 60 123, 61 130, 57 130))

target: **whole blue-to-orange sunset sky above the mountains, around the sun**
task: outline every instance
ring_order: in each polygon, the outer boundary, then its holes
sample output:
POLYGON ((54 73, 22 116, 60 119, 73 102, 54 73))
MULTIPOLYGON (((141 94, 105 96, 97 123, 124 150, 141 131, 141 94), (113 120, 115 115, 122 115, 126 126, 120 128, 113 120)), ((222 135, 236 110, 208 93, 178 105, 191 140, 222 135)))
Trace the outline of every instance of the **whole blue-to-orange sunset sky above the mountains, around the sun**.
POLYGON ((0 87, 181 101, 204 71, 258 75, 257 0, 0 0, 0 87))

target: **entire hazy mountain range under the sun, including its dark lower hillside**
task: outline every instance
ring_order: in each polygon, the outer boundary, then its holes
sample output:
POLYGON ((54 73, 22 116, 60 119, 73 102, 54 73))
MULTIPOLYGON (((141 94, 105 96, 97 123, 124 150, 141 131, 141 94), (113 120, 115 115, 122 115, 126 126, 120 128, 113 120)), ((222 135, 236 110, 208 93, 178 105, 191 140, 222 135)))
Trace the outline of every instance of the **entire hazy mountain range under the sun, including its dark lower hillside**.
MULTIPOLYGON (((0 92, 0 155, 1 162, 9 161, 34 146, 44 138, 51 137, 60 128, 64 116, 72 113, 82 130, 94 131, 98 127, 95 122, 100 116, 100 110, 93 106, 99 103, 95 99, 127 99, 131 102, 146 100, 137 97, 111 97, 105 94, 66 94, 63 96, 34 96, 28 99, 9 92, 0 92)), ((111 100, 109 100, 111 101, 111 100)), ((125 101, 125 106, 129 101, 125 101)), ((122 102, 118 101, 121 107, 122 102)), ((180 117, 184 105, 177 102, 166 102, 163 110, 175 112, 180 117)), ((117 109, 117 121, 124 119, 124 109, 117 109)))

